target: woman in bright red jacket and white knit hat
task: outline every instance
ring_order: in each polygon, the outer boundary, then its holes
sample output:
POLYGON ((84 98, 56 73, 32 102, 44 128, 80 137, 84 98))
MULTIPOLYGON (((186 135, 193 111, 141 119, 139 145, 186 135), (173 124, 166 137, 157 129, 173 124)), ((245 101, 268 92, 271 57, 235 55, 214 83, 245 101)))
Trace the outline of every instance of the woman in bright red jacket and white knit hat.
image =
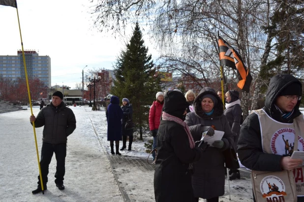
MULTIPOLYGON (((156 101, 153 102, 150 112, 149 112, 149 125, 150 130, 152 132, 153 136, 153 146, 152 149, 157 147, 157 131, 158 126, 160 124, 160 116, 162 111, 162 106, 164 104, 164 93, 163 92, 157 92, 156 93, 156 101)), ((152 153, 153 161, 155 159, 155 152, 152 153)))

